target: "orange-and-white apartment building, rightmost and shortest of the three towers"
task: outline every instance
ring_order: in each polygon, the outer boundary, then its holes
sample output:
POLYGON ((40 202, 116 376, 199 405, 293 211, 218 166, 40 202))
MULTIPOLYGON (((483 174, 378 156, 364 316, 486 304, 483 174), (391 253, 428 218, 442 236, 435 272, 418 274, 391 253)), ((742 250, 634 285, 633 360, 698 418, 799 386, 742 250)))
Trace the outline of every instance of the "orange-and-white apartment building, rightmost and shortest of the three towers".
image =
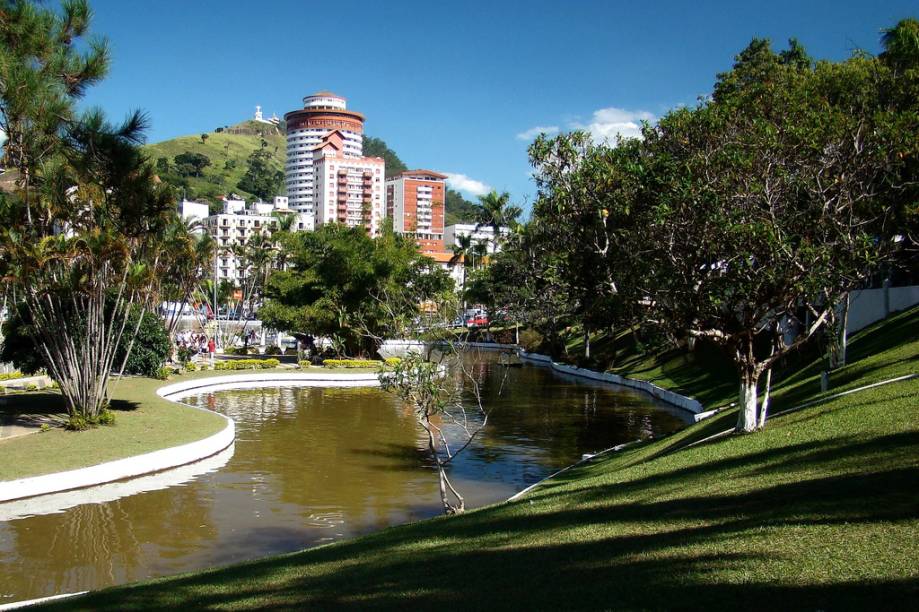
POLYGON ((386 216, 393 230, 415 238, 422 253, 444 252, 447 176, 408 170, 386 181, 386 216))

